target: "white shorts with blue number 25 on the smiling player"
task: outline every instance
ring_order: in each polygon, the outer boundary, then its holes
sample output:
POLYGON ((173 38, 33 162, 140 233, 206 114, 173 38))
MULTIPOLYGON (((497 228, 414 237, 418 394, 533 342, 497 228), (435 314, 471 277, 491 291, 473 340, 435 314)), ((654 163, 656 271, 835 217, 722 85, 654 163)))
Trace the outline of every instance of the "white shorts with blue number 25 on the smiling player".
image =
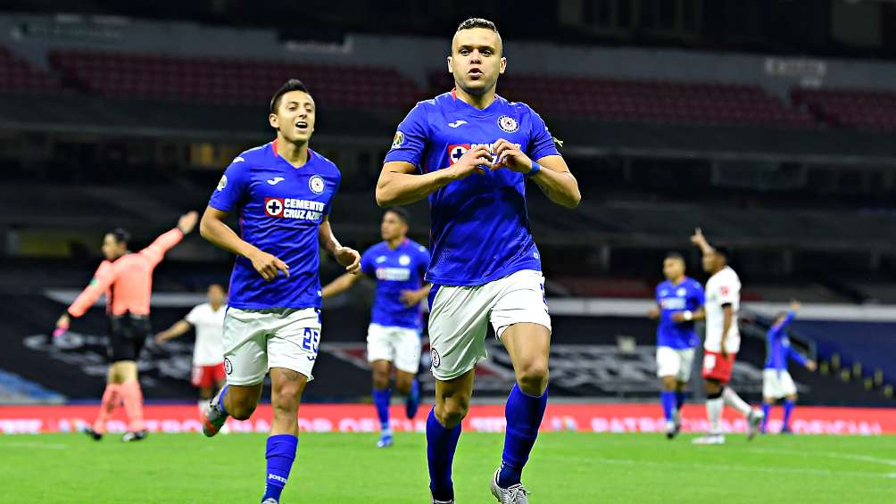
POLYGON ((286 368, 314 380, 311 370, 321 340, 314 308, 228 308, 224 316, 224 370, 229 385, 257 385, 271 368, 286 368))

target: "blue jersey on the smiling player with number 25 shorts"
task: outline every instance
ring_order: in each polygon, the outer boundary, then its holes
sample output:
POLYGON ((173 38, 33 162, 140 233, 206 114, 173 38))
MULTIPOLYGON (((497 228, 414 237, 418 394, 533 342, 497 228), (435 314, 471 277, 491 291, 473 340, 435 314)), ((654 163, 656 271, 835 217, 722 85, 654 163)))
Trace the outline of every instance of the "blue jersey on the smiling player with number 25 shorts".
POLYGON ((230 163, 209 205, 238 212, 239 235, 289 266, 267 282, 252 261, 238 256, 230 277, 228 305, 239 309, 320 308, 318 227, 330 215, 340 171, 308 149, 308 160, 293 167, 277 154, 277 141, 246 150, 230 163))

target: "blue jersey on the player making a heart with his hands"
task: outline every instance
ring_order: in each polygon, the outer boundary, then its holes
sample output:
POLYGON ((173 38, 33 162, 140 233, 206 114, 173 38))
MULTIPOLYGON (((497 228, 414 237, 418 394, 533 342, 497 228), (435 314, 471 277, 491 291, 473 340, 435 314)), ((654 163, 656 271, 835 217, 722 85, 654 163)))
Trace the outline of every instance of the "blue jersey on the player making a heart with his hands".
MULTIPOLYGON (((545 122, 529 106, 495 96, 484 110, 444 93, 421 101, 399 124, 385 161, 406 161, 421 174, 451 167, 480 145, 517 144, 533 161, 556 156, 545 122)), ((426 279, 479 286, 521 269, 541 269, 526 211, 522 174, 502 168, 473 174, 429 195, 433 258, 426 279)))

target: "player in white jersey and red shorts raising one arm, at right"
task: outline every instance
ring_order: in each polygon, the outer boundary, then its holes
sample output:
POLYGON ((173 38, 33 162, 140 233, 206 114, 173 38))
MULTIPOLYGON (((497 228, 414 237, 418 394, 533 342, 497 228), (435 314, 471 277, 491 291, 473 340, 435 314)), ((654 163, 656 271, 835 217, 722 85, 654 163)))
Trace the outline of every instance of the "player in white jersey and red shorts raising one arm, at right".
POLYGON ((743 414, 747 422, 747 439, 752 440, 762 422, 762 412, 754 410, 728 387, 737 351, 740 350, 740 332, 737 329, 737 312, 740 309, 740 278, 728 266, 730 252, 713 247, 706 241, 698 227, 691 236, 691 243, 700 247, 703 254, 703 270, 711 275, 706 282, 706 340, 703 343, 703 380, 706 383, 706 414, 710 420, 710 432, 694 440, 697 444, 722 444, 722 409, 725 405, 743 414))

